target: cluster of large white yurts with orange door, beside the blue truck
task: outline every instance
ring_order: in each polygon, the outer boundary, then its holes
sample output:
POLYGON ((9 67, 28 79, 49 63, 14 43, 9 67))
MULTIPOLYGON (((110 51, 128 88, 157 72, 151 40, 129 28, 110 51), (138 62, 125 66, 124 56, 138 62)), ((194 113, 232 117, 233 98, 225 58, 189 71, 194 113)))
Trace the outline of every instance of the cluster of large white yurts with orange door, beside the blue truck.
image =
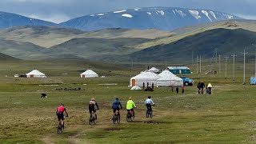
MULTIPOLYGON (((142 71, 141 74, 130 78, 130 86, 143 86, 149 82, 151 86, 154 83, 154 86, 183 86, 182 78, 179 78, 175 74, 171 73, 170 70, 164 70, 160 74, 155 74, 158 69, 152 67, 150 70, 142 71)), ((132 88, 133 89, 133 88, 132 88)), ((132 90, 131 89, 131 90, 132 90)))

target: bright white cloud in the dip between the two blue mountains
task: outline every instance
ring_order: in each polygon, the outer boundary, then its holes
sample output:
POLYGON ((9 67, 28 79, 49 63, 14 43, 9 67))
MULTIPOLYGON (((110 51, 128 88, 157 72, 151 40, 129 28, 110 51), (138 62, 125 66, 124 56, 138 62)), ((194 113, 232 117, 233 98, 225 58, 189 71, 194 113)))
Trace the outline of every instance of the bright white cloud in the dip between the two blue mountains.
POLYGON ((40 15, 40 14, 23 14, 29 18, 37 18, 48 22, 60 23, 70 20, 70 17, 65 14, 50 14, 50 15, 40 15))

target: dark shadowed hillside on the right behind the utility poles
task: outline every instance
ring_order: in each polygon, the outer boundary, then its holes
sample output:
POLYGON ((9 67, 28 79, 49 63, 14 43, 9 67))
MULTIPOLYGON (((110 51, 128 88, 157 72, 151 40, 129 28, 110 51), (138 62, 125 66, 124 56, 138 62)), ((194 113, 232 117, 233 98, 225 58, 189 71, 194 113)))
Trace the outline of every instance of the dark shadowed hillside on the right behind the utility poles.
POLYGON ((252 44, 256 42, 256 33, 243 29, 215 29, 207 30, 200 34, 182 38, 177 42, 166 45, 154 46, 130 54, 137 61, 162 61, 190 62, 192 51, 194 55, 210 59, 214 50, 222 56, 240 54, 243 49, 253 53, 252 44))

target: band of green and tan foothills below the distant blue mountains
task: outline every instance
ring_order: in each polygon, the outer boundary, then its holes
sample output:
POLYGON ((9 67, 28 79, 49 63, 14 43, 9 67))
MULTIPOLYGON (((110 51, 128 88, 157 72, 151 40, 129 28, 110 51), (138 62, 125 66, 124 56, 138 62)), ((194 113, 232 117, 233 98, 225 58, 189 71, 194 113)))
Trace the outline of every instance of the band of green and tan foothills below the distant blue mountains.
MULTIPOLYGON (((26 60, 90 59, 101 62, 190 62, 191 53, 210 59, 218 54, 254 55, 255 21, 223 21, 186 26, 179 34, 162 30, 82 30, 19 26, 0 30, 0 51, 26 60)), ((195 57, 194 57, 195 58, 195 57)))

